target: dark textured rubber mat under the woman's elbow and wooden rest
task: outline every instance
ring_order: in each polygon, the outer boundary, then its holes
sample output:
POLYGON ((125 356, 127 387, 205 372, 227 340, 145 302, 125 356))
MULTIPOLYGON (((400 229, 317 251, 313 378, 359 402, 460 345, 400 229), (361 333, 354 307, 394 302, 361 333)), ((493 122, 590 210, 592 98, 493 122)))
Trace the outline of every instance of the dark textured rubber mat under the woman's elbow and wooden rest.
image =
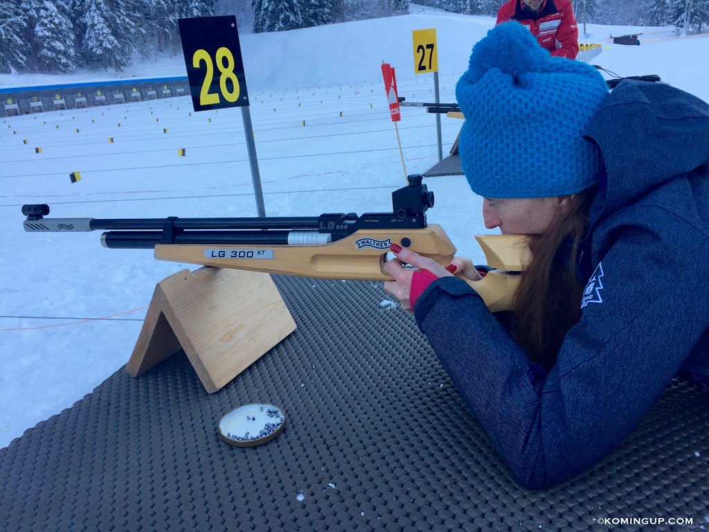
POLYGON ((709 401, 696 387, 675 381, 611 455, 533 492, 513 482, 411 316, 381 304, 381 283, 274 280, 298 328, 220 392, 178 353, 138 379, 116 372, 1 450, 0 530, 709 528, 709 401), (257 401, 284 409, 284 433, 223 443, 221 416, 257 401), (596 521, 606 517, 693 523, 596 521))

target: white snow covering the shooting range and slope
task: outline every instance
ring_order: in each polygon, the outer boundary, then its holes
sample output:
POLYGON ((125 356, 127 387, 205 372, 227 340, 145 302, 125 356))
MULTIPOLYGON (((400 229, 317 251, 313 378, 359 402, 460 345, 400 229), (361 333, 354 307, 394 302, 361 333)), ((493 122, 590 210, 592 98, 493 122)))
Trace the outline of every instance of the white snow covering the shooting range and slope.
MULTIPOLYGON (((391 192, 403 186, 404 177, 381 82, 382 60, 396 68, 400 96, 432 101, 432 76, 413 74, 411 31, 437 28, 441 101, 454 101, 454 84, 472 45, 494 23, 490 17, 412 11, 242 35, 268 216, 391 210, 391 192)), ((709 56, 709 35, 594 25, 587 31, 591 37, 585 42, 603 45, 596 64, 623 75, 660 74, 709 101, 709 70, 698 68, 700 58, 709 56), (610 35, 631 32, 643 33, 642 45, 610 43, 610 35)), ((0 86, 180 75, 184 61, 174 55, 135 63, 121 73, 6 74, 0 86)), ((437 162, 435 118, 415 108, 403 108, 402 114, 406 169, 420 173, 437 162)), ((460 125, 442 117, 444 150, 460 125)), ((133 350, 155 284, 186 267, 154 260, 150 250, 105 249, 99 232, 26 233, 22 204, 48 203, 50 216, 79 218, 256 216, 257 211, 240 111, 194 113, 188 97, 4 118, 0 157, 4 447, 119 370, 133 350), (115 142, 108 143, 109 137, 115 142), (42 148, 40 154, 35 147, 42 148), (179 148, 186 148, 185 157, 177 155, 179 148), (72 184, 74 171, 82 179, 72 184)), ((429 223, 442 225, 459 255, 481 262, 472 238, 489 233, 481 221, 481 200, 463 177, 426 182, 436 194, 429 223)))

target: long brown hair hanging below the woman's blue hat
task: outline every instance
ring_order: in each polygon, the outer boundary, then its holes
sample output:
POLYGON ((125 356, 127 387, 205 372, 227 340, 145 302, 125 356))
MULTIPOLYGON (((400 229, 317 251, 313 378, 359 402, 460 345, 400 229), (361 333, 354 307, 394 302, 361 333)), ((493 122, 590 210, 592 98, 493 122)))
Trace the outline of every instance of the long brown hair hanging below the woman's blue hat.
POLYGON ((586 232, 596 187, 574 194, 543 235, 530 236, 530 262, 515 293, 510 332, 545 370, 557 361, 564 336, 581 318, 583 285, 576 277, 576 257, 586 232))

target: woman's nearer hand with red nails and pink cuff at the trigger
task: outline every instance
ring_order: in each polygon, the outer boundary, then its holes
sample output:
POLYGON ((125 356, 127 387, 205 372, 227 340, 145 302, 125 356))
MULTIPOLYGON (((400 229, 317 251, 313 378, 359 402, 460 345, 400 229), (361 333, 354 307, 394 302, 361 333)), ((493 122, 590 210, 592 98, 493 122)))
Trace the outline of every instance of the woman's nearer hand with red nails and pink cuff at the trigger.
POLYGON ((435 260, 422 257, 418 255, 418 253, 414 253, 406 248, 401 248, 401 246, 396 244, 391 245, 391 252, 396 258, 387 261, 383 269, 385 272, 389 273, 394 280, 385 281, 384 290, 401 301, 401 308, 409 312, 412 311, 412 302, 410 300, 412 281, 415 288, 414 292, 416 292, 414 295, 418 297, 418 295, 423 292, 423 289, 432 281, 438 277, 451 277, 453 275, 451 271, 455 271, 452 270, 452 266, 449 266, 451 270, 447 270, 435 260), (418 270, 404 268, 402 263, 417 267, 418 270), (414 273, 417 274, 418 279, 413 279, 414 273), (423 284, 423 289, 417 292, 416 288, 417 286, 420 288, 421 284, 423 284))

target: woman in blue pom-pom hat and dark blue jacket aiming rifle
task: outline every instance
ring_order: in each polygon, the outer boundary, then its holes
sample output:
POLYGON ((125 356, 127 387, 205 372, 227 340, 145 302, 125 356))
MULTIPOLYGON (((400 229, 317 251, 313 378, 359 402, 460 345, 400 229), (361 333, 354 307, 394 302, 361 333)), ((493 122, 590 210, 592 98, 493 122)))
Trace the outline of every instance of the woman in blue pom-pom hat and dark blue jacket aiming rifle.
POLYGON ((609 95, 517 23, 475 46, 457 98, 486 227, 530 235, 516 310, 491 314, 452 275, 478 278, 469 260, 398 245, 384 287, 515 479, 549 487, 612 450, 678 372, 709 375, 709 106, 630 80, 609 95))

